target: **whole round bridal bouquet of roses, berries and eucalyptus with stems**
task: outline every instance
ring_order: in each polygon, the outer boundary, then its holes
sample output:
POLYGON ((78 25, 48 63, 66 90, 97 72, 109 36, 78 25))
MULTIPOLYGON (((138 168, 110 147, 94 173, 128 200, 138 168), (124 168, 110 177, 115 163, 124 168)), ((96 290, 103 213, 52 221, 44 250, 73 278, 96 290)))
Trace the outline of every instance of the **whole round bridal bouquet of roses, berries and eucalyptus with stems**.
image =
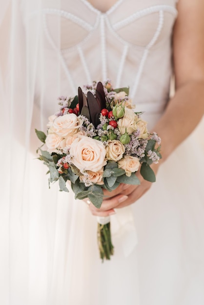
MULTIPOLYGON (((150 165, 161 158, 160 138, 149 134, 142 113, 134 112, 128 88, 113 89, 109 80, 79 87, 75 97, 59 97, 60 110, 49 117, 47 134, 36 130, 47 146, 39 159, 49 168, 49 183, 59 181, 68 191, 70 180, 76 199, 89 198, 100 209, 103 189, 115 190, 120 183, 139 185, 136 172, 154 182, 150 165), (158 148, 156 149, 156 143, 158 148)), ((102 260, 110 259, 113 246, 110 219, 98 224, 102 260)))

